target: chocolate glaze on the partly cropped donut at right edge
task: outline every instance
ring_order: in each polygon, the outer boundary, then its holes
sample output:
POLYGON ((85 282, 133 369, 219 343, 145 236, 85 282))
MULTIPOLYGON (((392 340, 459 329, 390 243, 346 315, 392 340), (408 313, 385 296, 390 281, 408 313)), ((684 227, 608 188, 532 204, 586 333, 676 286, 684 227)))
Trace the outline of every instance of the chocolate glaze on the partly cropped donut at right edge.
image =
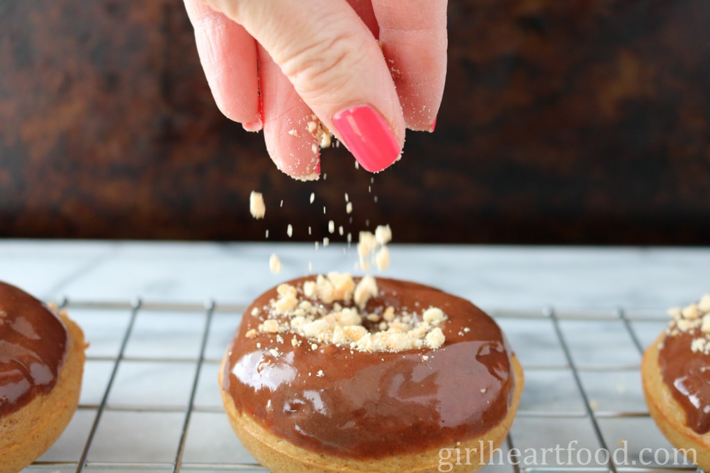
POLYGON ((666 336, 658 351, 663 381, 685 411, 686 423, 699 434, 710 431, 710 356, 692 352, 698 333, 666 336))

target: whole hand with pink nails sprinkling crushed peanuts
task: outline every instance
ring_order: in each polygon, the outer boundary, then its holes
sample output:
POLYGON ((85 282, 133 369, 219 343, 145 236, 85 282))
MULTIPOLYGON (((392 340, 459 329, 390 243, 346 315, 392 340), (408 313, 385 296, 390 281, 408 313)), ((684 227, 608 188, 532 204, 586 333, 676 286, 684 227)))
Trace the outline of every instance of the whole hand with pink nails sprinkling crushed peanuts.
POLYGON ((447 0, 185 0, 185 7, 217 106, 246 130, 263 129, 273 162, 292 177, 318 178, 327 130, 378 172, 398 160, 405 128, 434 129, 447 0))

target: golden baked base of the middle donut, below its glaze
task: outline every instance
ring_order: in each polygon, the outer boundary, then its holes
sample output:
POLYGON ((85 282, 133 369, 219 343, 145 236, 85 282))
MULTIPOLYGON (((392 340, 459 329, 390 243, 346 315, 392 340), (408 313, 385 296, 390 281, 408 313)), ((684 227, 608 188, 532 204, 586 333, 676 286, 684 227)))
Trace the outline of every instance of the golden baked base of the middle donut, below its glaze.
MULTIPOLYGON (((225 360, 226 357, 222 360, 222 367, 219 370, 220 386, 222 386, 225 360)), ((462 441, 460 444, 457 443, 457 445, 440 445, 419 453, 394 455, 378 459, 343 458, 297 447, 261 427, 251 416, 237 411, 236 406, 234 406, 234 400, 231 399, 229 393, 224 391, 224 389, 220 389, 220 391, 222 392, 222 401, 224 402, 229 423, 231 423, 236 436, 246 447, 246 450, 272 473, 435 473, 441 471, 439 469, 439 452, 443 448, 458 448, 459 452, 464 452, 464 455, 461 455, 462 459, 465 457, 466 448, 472 452, 470 455, 471 464, 463 464, 465 462, 462 460, 462 464, 453 464, 452 469, 447 469, 447 471, 476 472, 490 460, 491 449, 498 448, 506 439, 510 425, 513 423, 513 418, 515 418, 515 412, 518 411, 520 395, 523 393, 523 368, 520 367, 520 362, 518 362, 515 355, 511 355, 510 363, 513 367, 515 389, 508 413, 498 425, 488 430, 484 435, 462 441), (478 450, 473 453, 474 449, 478 449, 481 445, 484 445, 483 455, 478 450), (481 457, 484 459, 483 462, 479 462, 481 457)), ((454 458, 455 455, 449 461, 453 462, 454 458)))

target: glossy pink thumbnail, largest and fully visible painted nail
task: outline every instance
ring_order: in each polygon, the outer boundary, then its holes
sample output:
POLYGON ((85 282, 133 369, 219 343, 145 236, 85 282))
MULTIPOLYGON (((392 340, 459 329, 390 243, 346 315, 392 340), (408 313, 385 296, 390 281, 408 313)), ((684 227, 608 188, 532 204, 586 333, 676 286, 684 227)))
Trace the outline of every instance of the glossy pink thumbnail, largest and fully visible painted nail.
POLYGON ((378 172, 395 162, 400 145, 384 118, 371 106, 339 111, 333 124, 340 140, 369 172, 378 172))

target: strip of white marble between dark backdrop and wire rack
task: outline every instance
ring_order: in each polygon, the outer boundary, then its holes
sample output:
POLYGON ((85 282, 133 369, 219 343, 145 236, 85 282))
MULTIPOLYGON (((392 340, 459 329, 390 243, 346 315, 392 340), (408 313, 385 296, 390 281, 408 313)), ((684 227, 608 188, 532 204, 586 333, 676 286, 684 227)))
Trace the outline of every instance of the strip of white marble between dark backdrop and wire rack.
MULTIPOLYGON (((710 291, 710 248, 390 245, 383 276, 484 308, 665 308, 710 291)), ((0 279, 42 299, 246 303, 309 272, 351 271, 354 247, 305 243, 0 240, 0 279), (275 252, 283 272, 271 274, 275 252)), ((377 274, 377 273, 376 273, 377 274)))

